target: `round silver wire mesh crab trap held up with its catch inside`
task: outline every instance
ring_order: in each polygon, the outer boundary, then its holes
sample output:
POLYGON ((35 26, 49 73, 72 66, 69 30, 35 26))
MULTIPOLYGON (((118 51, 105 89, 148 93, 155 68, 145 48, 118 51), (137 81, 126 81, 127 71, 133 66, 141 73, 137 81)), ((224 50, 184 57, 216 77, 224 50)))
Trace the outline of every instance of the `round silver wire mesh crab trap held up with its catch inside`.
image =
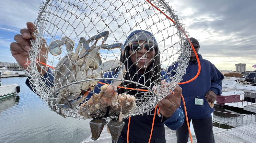
POLYGON ((122 107, 122 118, 127 118, 152 110, 178 85, 188 66, 186 27, 163 0, 48 0, 35 24, 29 80, 51 110, 63 117, 115 118, 122 107), (129 41, 123 45, 140 29, 156 38, 154 52, 132 52, 129 41), (175 62, 176 74, 168 77, 175 62))

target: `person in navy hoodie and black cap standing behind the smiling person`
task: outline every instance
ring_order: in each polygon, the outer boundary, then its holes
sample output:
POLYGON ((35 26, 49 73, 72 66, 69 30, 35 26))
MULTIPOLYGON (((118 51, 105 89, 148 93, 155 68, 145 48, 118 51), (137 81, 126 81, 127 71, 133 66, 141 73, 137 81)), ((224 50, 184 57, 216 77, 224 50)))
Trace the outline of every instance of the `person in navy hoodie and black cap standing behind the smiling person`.
MULTIPOLYGON (((199 54, 200 45, 195 38, 190 38, 190 42, 185 42, 185 45, 192 44, 195 52, 190 46, 191 56, 186 73, 183 76, 185 82, 191 80, 198 72, 198 60, 201 64, 200 74, 198 77, 186 84, 180 84, 182 88, 182 95, 185 100, 188 121, 192 120, 196 139, 198 143, 214 143, 213 135, 213 119, 212 113, 214 112, 214 101, 217 95, 222 94, 222 80, 223 74, 212 64, 210 61, 203 59, 199 54), (198 58, 196 58, 196 54, 198 58)), ((168 69, 169 76, 174 76, 174 71, 179 63, 174 62, 168 69)), ((184 110, 183 102, 181 101, 181 108, 184 110)), ((176 130, 177 143, 187 143, 189 138, 189 131, 187 122, 176 130)))

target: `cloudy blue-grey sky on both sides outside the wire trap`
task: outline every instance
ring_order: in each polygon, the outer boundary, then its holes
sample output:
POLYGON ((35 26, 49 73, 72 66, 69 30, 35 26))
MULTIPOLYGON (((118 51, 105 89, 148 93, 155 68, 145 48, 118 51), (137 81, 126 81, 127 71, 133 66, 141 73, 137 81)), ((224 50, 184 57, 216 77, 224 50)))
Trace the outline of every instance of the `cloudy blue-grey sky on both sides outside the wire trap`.
MULTIPOLYGON (((9 46, 26 22, 37 19, 41 0, 8 0, 0 5, 0 61, 16 62, 9 46)), ((256 64, 255 0, 166 0, 182 18, 190 37, 200 43, 199 53, 219 70, 235 71, 236 63, 256 64)))

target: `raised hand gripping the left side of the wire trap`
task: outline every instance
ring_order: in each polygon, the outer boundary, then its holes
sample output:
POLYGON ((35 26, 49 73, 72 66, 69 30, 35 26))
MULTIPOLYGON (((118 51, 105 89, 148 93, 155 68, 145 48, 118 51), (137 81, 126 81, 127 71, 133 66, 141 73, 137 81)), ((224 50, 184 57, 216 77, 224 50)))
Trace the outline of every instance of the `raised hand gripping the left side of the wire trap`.
MULTIPOLYGON (((36 35, 34 34, 34 32, 37 33, 35 24, 28 22, 27 28, 20 29, 21 34, 17 34, 14 36, 14 40, 16 42, 13 42, 10 44, 10 50, 11 50, 12 56, 19 63, 19 65, 24 69, 28 68, 28 65, 26 63, 29 58, 28 51, 31 47, 30 41, 36 39, 36 35)), ((46 41, 43 38, 41 38, 41 40, 43 41, 43 43, 39 45, 39 47, 41 47, 41 51, 37 60, 40 62, 46 63, 46 59, 48 55, 48 51, 45 46, 46 41)), ((38 72, 41 72, 41 74, 43 75, 48 70, 48 67, 46 67, 45 65, 41 65, 40 62, 38 65, 38 72), (43 67, 43 69, 41 67, 43 67)))

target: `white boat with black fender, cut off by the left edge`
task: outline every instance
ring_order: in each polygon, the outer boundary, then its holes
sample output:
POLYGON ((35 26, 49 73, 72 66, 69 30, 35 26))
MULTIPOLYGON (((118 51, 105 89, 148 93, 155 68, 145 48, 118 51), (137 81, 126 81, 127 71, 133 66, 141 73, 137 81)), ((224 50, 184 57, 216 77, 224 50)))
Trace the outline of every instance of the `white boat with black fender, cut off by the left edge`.
POLYGON ((19 93, 19 84, 3 84, 0 77, 0 100, 17 95, 19 93))

